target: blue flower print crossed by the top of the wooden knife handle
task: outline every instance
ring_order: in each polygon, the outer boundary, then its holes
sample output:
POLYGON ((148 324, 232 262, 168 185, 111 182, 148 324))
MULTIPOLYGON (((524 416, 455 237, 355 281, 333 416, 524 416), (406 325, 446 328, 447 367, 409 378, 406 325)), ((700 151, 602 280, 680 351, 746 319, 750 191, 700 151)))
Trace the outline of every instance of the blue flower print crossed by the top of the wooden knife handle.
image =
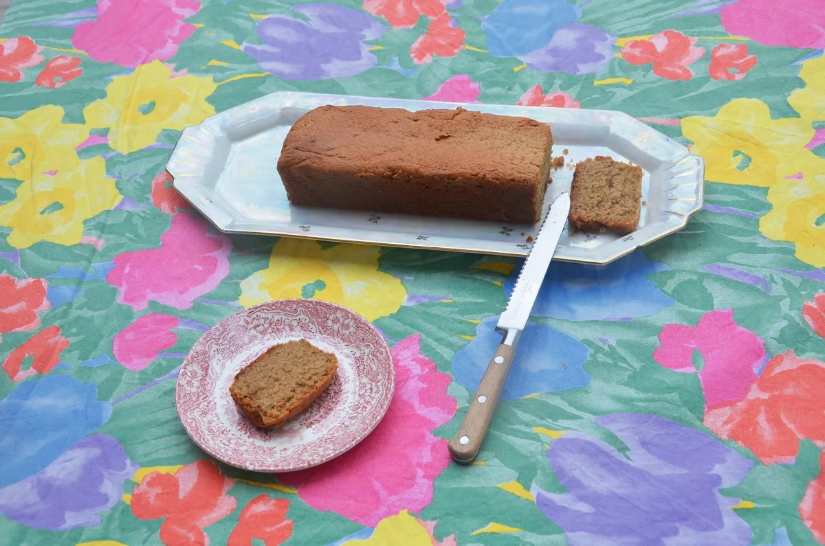
MULTIPOLYGON (((479 323, 473 341, 453 358, 455 379, 470 390, 478 388, 484 369, 502 341, 501 334, 495 331, 497 321, 497 317, 490 317, 479 323)), ((590 349, 581 341, 549 326, 528 322, 504 384, 502 400, 586 386, 591 375, 582 365, 588 355, 590 349)))

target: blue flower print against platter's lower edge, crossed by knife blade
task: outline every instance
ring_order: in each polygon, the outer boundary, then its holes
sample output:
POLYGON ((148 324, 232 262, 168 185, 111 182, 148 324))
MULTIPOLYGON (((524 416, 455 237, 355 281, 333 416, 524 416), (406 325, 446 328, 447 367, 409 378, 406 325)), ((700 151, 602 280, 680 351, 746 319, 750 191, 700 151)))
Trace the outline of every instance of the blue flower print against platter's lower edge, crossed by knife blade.
MULTIPOLYGON (((516 267, 504 288, 512 293, 516 267)), ((662 294, 648 275, 668 271, 640 251, 606 266, 554 261, 550 264, 533 306, 535 317, 565 320, 627 320, 647 317, 670 307, 674 301, 662 294)))

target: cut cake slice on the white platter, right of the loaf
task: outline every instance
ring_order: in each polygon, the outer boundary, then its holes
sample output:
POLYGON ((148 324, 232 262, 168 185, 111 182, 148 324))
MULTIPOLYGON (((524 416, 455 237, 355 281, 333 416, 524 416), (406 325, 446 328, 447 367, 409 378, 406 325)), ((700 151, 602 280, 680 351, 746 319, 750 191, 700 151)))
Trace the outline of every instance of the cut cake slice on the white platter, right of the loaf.
POLYGON ((636 230, 642 200, 642 167, 606 156, 576 165, 570 190, 570 224, 584 232, 636 230))

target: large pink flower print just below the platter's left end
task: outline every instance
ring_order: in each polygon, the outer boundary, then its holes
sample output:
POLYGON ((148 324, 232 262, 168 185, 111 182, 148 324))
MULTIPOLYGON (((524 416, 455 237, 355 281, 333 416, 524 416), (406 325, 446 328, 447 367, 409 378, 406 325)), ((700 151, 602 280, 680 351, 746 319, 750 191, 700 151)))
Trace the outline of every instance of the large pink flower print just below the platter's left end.
POLYGON ((106 281, 120 294, 117 301, 135 311, 149 300, 178 309, 217 288, 229 273, 232 242, 210 233, 209 224, 192 214, 178 213, 160 238, 160 248, 123 252, 106 281))

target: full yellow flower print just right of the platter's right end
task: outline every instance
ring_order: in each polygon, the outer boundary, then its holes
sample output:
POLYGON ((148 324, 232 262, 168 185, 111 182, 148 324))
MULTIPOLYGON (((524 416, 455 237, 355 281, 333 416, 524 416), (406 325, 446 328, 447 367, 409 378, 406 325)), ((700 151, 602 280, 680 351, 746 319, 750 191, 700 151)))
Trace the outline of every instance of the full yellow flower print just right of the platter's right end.
POLYGON ((768 106, 756 99, 734 99, 714 116, 686 117, 681 130, 694 143, 691 152, 707 159, 709 181, 773 186, 818 161, 805 148, 813 126, 799 118, 771 120, 768 106))

